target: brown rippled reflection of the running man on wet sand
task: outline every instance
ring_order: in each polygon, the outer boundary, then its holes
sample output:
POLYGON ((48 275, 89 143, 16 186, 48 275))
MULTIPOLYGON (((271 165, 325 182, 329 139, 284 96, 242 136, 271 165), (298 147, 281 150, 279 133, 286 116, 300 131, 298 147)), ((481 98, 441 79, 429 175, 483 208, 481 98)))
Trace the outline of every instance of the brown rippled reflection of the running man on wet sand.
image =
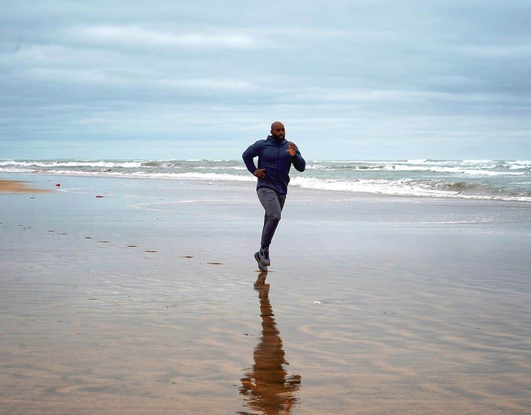
POLYGON ((254 365, 241 379, 239 392, 245 395, 245 405, 267 415, 287 414, 297 402, 296 392, 301 387, 301 376, 287 376, 284 366, 282 340, 277 330, 273 310, 269 302, 269 284, 265 284, 267 273, 261 272, 254 284, 260 298, 262 337, 254 349, 254 365))

